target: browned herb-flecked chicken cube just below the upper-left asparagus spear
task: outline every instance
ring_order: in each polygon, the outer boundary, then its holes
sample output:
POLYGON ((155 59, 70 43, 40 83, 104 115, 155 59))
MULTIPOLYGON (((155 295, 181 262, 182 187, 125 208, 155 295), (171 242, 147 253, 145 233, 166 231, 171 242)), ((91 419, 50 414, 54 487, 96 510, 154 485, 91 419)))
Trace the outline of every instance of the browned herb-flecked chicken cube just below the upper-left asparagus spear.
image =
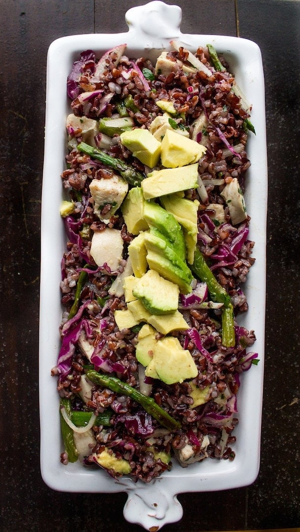
POLYGON ((113 174, 108 179, 93 179, 90 190, 94 200, 94 213, 104 223, 108 223, 123 203, 128 192, 128 183, 122 177, 113 174), (103 210, 106 206, 110 206, 110 209, 107 210, 107 207, 103 210))

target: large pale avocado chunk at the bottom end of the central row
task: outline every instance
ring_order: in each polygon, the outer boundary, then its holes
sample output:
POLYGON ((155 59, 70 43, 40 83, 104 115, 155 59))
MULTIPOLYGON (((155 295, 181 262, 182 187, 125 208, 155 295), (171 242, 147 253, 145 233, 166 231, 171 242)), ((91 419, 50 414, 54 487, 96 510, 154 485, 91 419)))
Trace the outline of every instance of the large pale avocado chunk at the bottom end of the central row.
MULTIPOLYGON (((157 341, 153 351, 152 365, 160 380, 166 384, 182 383, 198 375, 198 369, 188 350, 184 350, 179 339, 166 336, 157 341)), ((145 374, 148 375, 148 368, 145 374)))

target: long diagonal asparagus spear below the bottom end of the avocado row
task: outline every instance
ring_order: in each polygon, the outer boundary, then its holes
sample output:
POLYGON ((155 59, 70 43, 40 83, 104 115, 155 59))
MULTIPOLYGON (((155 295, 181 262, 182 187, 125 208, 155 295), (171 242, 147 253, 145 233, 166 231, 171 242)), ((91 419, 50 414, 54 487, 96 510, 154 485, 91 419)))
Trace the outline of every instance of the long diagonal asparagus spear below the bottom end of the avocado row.
POLYGON ((117 379, 117 377, 108 377, 95 370, 88 371, 86 375, 92 383, 109 388, 113 392, 127 395, 127 397, 130 397, 133 401, 139 403, 148 414, 152 415, 160 425, 163 425, 168 430, 174 431, 181 428, 180 422, 172 418, 172 416, 161 408, 152 397, 141 394, 141 392, 120 379, 117 379))

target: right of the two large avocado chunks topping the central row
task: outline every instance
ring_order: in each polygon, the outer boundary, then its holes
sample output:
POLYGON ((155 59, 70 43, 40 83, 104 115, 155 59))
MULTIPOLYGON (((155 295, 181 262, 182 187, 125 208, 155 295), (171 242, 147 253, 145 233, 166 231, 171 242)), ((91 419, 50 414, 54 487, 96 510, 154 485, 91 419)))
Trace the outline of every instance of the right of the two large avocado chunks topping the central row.
POLYGON ((185 138, 174 129, 167 129, 161 141, 161 162, 166 168, 183 167, 196 163, 206 152, 206 147, 195 140, 185 138))

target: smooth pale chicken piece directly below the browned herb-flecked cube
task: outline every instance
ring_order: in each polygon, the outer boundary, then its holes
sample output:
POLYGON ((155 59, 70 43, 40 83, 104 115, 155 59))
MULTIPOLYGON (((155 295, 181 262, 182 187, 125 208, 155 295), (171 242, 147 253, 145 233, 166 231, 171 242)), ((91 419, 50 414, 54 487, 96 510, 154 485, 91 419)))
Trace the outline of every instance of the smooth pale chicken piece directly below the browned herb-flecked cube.
POLYGON ((103 266, 106 263, 111 273, 117 272, 122 260, 123 246, 121 231, 106 227, 102 231, 94 232, 91 255, 98 266, 103 266))

